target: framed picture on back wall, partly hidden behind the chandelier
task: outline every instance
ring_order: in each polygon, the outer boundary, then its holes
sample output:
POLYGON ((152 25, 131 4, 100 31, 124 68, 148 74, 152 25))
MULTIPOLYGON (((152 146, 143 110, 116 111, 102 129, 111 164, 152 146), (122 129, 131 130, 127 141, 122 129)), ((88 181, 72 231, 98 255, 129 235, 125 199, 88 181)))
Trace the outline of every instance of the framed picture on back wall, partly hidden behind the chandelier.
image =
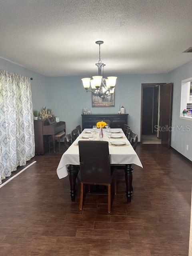
POLYGON ((115 93, 110 94, 110 96, 108 96, 105 99, 102 99, 99 96, 92 95, 93 108, 114 107, 114 106, 115 106, 115 93))

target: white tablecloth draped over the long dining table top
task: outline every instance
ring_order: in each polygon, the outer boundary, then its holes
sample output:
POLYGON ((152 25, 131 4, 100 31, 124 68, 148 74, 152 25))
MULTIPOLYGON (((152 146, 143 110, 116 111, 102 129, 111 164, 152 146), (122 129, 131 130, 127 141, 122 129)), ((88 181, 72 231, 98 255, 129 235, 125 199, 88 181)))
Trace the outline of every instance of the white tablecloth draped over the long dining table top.
MULTIPOLYGON (((64 152, 64 154, 61 157, 61 160, 59 162, 58 168, 57 168, 57 175, 60 179, 65 178, 68 175, 67 167, 69 164, 79 165, 79 147, 75 146, 74 143, 78 142, 80 137, 82 135, 85 135, 86 130, 91 129, 84 129, 83 132, 80 134, 80 136, 73 142, 73 144, 64 152)), ((111 129, 111 130, 120 130, 122 134, 124 135, 122 129, 111 129)), ((99 131, 99 129, 98 129, 99 131)), ((123 139, 108 139, 106 135, 106 129, 103 129, 104 137, 103 140, 105 141, 124 141, 128 142, 127 138, 123 139)), ((86 134, 88 135, 88 134, 86 134)), ((95 140, 99 140, 99 132, 97 134, 94 134, 97 138, 95 140)), ((124 136, 125 137, 125 136, 124 136)), ((123 147, 115 147, 109 145, 109 154, 110 154, 110 163, 111 164, 136 164, 140 167, 142 166, 142 163, 136 154, 135 150, 132 148, 131 145, 129 146, 123 146, 123 147)))

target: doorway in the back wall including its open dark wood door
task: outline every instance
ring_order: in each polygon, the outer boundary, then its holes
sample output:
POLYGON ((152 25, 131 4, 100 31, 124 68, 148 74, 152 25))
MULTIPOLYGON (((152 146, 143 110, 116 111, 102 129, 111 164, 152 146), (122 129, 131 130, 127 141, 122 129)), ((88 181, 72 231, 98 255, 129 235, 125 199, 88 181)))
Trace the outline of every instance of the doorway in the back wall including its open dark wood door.
POLYGON ((141 143, 170 148, 173 83, 141 85, 141 143), (163 128, 163 129, 162 129, 163 128))

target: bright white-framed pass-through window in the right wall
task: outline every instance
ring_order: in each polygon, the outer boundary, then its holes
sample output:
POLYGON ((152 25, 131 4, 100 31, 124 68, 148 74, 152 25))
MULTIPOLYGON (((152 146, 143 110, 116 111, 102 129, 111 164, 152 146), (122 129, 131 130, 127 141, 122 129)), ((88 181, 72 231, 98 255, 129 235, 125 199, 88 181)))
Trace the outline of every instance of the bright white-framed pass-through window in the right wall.
POLYGON ((192 119, 192 78, 182 80, 181 83, 180 117, 192 119))

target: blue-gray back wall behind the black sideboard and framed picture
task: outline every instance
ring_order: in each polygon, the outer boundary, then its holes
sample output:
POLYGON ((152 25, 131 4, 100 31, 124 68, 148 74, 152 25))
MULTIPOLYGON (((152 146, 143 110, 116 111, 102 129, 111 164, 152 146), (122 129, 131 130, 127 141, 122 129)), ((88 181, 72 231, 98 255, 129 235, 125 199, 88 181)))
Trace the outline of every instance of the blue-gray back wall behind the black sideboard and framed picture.
MULTIPOLYGON (((82 124, 84 107, 90 108, 91 94, 85 91, 79 76, 50 77, 48 90, 50 108, 66 122, 67 132, 82 124)), ((137 74, 118 76, 115 92, 115 107, 92 108, 92 113, 118 113, 123 105, 128 116, 128 124, 138 134, 140 140, 141 84, 163 83, 167 74, 137 74)))

